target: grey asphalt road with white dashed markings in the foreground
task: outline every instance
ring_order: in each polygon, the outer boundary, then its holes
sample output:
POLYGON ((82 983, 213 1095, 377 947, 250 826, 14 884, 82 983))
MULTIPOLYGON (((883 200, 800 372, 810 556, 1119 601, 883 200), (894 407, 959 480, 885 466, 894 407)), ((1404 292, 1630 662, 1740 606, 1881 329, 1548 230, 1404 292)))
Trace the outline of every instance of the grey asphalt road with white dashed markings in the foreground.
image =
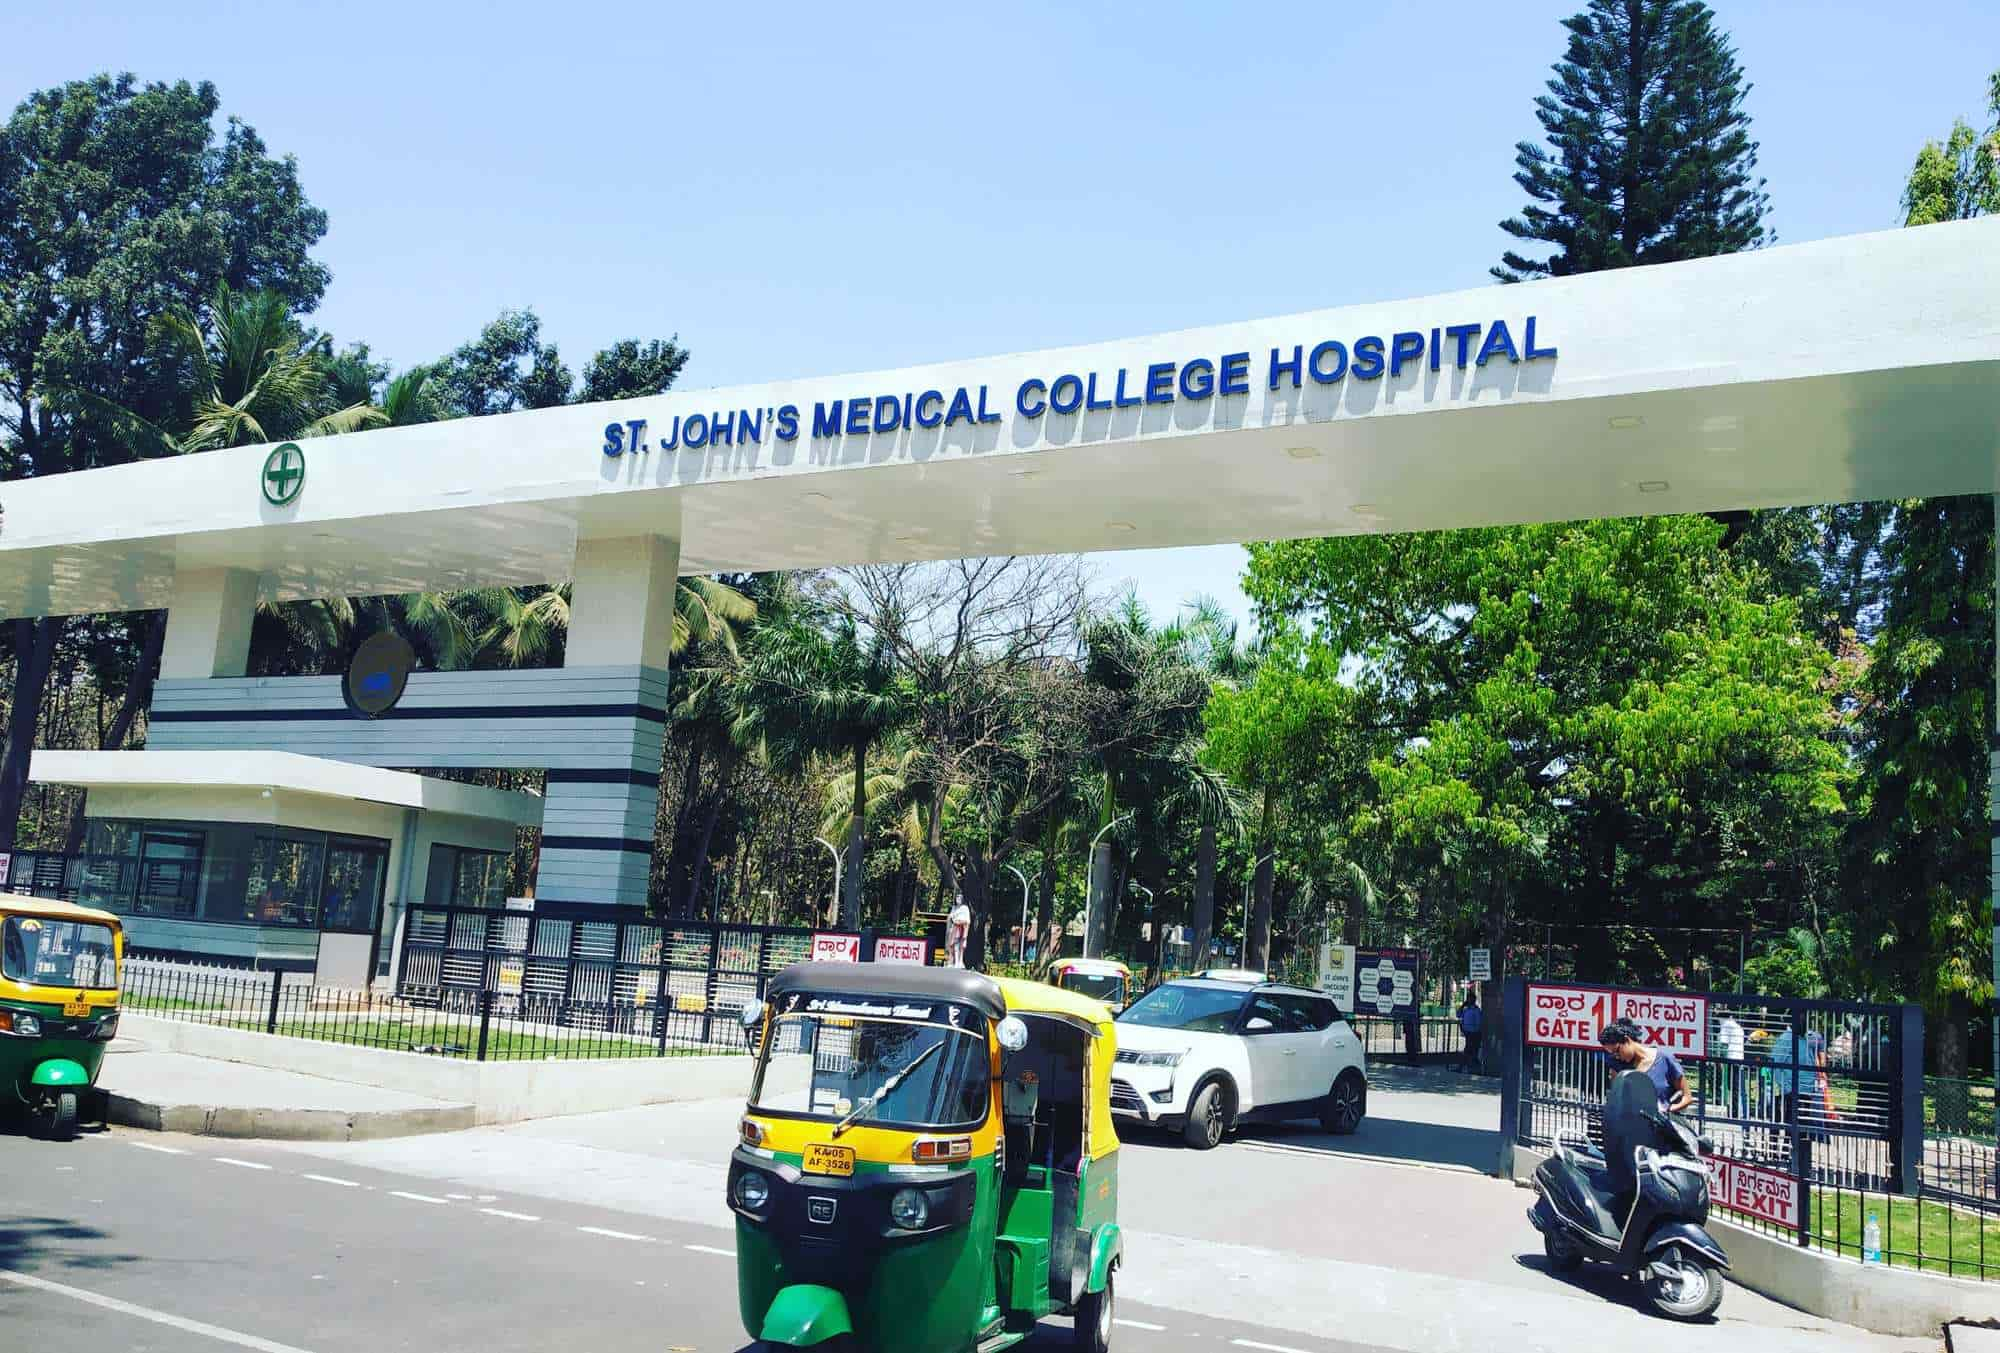
MULTIPOLYGON (((746 1349, 732 1243, 720 1227, 258 1143, 0 1139, 10 1349, 746 1349)), ((1130 1301, 1120 1323, 1132 1349, 1380 1353, 1130 1301)), ((1028 1347, 1068 1345, 1068 1323, 1046 1321, 1028 1347)))

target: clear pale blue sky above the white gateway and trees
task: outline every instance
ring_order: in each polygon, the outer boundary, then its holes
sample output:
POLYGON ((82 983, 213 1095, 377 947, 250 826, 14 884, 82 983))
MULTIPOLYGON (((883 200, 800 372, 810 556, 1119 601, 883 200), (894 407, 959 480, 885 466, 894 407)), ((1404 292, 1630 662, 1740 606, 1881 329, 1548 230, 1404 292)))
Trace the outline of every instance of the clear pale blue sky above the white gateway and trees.
MULTIPOLYGON (((678 332, 702 388, 1478 286, 1580 2, 8 8, 8 106, 206 78, 296 154, 338 338, 408 364, 534 306, 572 368, 678 332)), ((1992 0, 1714 8, 1780 240, 1896 224, 2000 66, 1992 0)), ((1242 608, 1240 560, 1100 574, 1242 608)))

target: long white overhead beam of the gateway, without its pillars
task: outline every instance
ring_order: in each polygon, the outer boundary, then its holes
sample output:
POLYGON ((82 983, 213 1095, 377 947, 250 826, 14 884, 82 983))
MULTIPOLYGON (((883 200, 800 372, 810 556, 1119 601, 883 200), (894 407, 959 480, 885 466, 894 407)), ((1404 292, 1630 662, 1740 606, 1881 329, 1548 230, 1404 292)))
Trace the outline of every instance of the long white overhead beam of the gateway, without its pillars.
POLYGON ((580 536, 644 532, 678 538, 682 570, 698 572, 1994 492, 1996 258, 2000 220, 1974 220, 390 428, 304 442, 286 506, 264 498, 266 446, 10 482, 0 614, 160 606, 176 566, 252 570, 264 598, 550 582, 570 576, 580 536), (1450 326, 1480 324, 1484 346, 1496 320, 1512 356, 1454 350, 1450 326), (1360 340, 1396 334, 1418 352, 1362 378, 1360 340), (1342 378, 1294 388, 1280 372, 1272 388, 1274 352, 1322 340, 1342 344, 1342 378), (1530 356, 1530 342, 1556 354, 1530 356), (1220 380, 1230 354, 1246 354, 1244 392, 1180 384, 1198 360, 1220 380), (1148 402, 1160 364, 1166 398, 1148 402), (1078 396, 1096 378, 1092 406, 1044 412, 1064 374, 1078 396), (960 388, 966 416, 946 422, 960 388), (868 430, 848 422, 856 398, 868 430), (814 436, 834 400, 842 432, 814 436), (786 406, 796 440, 778 436, 786 406), (918 412, 942 426, 872 430, 918 412), (730 442, 690 450, 696 414, 726 418, 730 442), (604 454, 606 424, 632 420, 652 450, 604 454), (676 428, 680 448, 660 450, 676 428))

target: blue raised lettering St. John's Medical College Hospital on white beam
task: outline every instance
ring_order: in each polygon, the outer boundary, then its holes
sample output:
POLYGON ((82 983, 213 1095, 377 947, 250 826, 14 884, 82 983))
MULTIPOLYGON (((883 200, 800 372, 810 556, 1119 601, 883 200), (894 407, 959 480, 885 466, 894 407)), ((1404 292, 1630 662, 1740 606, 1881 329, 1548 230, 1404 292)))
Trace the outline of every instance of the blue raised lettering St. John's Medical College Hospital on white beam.
MULTIPOLYGON (((1558 356, 1556 344, 1542 340, 1540 318, 1520 316, 1516 322, 1484 320, 1464 324, 1430 324, 1426 328, 1362 334, 1358 338, 1316 338, 1276 346, 1264 364, 1266 390, 1302 390, 1306 382, 1336 386, 1346 378, 1382 380, 1408 376, 1412 368, 1440 372, 1482 368, 1496 358, 1510 364, 1546 362, 1558 356), (1516 340, 1518 334, 1518 340, 1516 340)), ((1116 366, 1084 372, 1042 372, 1014 386, 1018 418, 1048 414, 1114 412, 1140 404, 1200 402, 1230 394, 1250 394, 1250 352, 1190 356, 1144 366, 1116 366)), ((818 400, 812 406, 814 440, 838 436, 894 436, 946 428, 960 422, 1000 422, 992 386, 962 384, 944 390, 902 390, 878 394, 848 394, 818 400)), ((776 408, 738 408, 734 412, 674 414, 662 420, 668 428, 658 438, 660 450, 682 446, 750 446, 764 442, 764 428, 780 442, 796 442, 804 428, 798 404, 776 408)), ((646 440, 646 420, 606 422, 600 450, 608 458, 644 454, 654 446, 646 440)))

